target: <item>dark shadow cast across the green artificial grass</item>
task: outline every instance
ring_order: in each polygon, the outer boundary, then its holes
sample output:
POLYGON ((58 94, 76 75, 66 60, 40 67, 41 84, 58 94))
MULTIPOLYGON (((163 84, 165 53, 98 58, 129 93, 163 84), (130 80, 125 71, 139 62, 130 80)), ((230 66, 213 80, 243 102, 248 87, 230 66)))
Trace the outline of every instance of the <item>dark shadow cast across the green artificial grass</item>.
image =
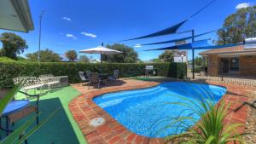
MULTIPOLYGON (((35 104, 35 101, 32 101, 32 105, 35 104)), ((41 112, 39 119, 42 121, 44 118, 47 118, 51 112, 54 112, 55 109, 61 108, 53 118, 44 124, 36 133, 31 135, 28 138, 29 144, 76 144, 79 143, 77 136, 74 133, 73 127, 67 117, 67 114, 62 107, 61 101, 59 98, 50 98, 39 101, 39 111, 41 112)), ((24 124, 25 121, 34 116, 26 117, 15 123, 15 126, 12 127, 14 130, 19 127, 21 124, 24 124)), ((36 121, 34 125, 36 124, 36 121)), ((1 135, 5 135, 1 132, 1 135)))

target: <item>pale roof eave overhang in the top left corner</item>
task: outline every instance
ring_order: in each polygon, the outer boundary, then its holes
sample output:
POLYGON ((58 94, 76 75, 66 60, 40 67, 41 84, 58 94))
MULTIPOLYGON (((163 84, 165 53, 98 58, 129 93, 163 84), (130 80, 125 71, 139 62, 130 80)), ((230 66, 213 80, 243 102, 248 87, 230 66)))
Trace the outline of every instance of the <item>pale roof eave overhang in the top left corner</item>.
POLYGON ((27 0, 1 0, 0 21, 0 29, 17 32, 34 30, 27 0))

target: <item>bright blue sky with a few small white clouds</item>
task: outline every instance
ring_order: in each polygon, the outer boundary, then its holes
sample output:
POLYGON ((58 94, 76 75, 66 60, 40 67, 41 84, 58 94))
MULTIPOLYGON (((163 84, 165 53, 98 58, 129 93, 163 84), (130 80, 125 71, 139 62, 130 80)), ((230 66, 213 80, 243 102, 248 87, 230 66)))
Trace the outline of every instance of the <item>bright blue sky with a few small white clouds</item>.
MULTIPOLYGON (((116 42, 157 32, 185 20, 211 0, 29 0, 35 30, 29 33, 15 32, 26 39, 29 49, 23 55, 38 50, 38 15, 45 10, 42 20, 42 49, 52 49, 63 55, 68 49, 94 48, 102 42, 116 42)), ((178 32, 195 29, 195 34, 212 31, 222 26, 225 17, 237 8, 253 4, 244 0, 217 0, 210 7, 187 21, 178 32), (240 5, 239 5, 240 4, 240 5)), ((0 30, 0 33, 8 32, 0 30)), ((189 36, 173 34, 125 42, 152 43, 189 36)), ((204 38, 216 39, 215 33, 204 38)), ((145 49, 166 47, 172 44, 134 48, 141 60, 157 58, 163 51, 144 52, 145 49)), ((1 46, 1 45, 0 45, 1 46)), ((195 51, 196 54, 200 51, 195 51)), ((98 55, 88 55, 98 59, 98 55)), ((189 59, 191 58, 189 52, 189 59)))

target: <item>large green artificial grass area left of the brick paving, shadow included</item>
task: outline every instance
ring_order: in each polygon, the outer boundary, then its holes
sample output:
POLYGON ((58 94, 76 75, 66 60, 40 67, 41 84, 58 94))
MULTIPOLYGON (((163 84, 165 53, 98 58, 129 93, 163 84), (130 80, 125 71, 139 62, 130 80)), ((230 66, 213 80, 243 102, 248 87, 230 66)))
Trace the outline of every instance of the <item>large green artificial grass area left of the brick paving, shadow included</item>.
MULTIPOLYGON (((29 93, 33 94, 34 91, 29 93)), ((44 124, 35 134, 28 139, 30 144, 87 144, 84 140, 84 135, 79 130, 78 124, 73 119, 72 113, 68 109, 68 102, 74 97, 81 95, 79 91, 68 86, 61 89, 53 89, 52 92, 42 95, 39 101, 40 119, 46 118, 55 109, 61 107, 61 110, 50 119, 47 124, 44 124)), ((22 98, 19 94, 17 98, 22 98)), ((35 99, 32 100, 35 104, 35 99)), ((28 118, 23 118, 14 126, 18 127, 28 118)), ((36 122, 35 122, 36 123, 36 122)))

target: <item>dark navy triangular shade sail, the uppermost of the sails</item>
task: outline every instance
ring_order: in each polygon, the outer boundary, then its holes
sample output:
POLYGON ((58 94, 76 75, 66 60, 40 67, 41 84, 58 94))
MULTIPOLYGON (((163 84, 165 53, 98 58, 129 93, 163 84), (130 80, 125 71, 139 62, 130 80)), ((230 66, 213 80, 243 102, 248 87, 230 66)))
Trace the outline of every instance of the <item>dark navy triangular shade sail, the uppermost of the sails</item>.
MULTIPOLYGON (((136 37, 136 38, 131 38, 131 39, 126 39, 123 41, 130 41, 130 40, 137 40, 137 39, 143 39, 143 38, 148 38, 148 37, 158 37, 158 36, 164 36, 164 35, 168 35, 168 34, 173 34, 177 32, 177 29, 183 25, 183 23, 185 23, 187 20, 183 20, 182 22, 178 23, 177 25, 171 26, 169 28, 166 28, 165 30, 162 30, 160 32, 154 32, 151 34, 148 34, 146 36, 143 37, 136 37)), ((122 42, 122 41, 120 41, 122 42)))

